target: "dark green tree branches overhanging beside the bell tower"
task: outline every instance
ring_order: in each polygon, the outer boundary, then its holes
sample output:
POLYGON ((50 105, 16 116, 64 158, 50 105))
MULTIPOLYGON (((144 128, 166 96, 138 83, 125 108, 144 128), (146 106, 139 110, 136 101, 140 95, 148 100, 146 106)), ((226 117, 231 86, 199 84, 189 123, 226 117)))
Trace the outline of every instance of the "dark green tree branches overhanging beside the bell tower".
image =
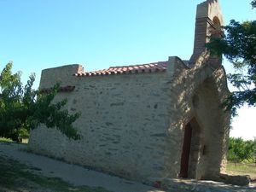
MULTIPOLYGON (((256 1, 251 4, 255 8, 256 1)), ((224 55, 236 69, 228 79, 237 91, 224 102, 224 107, 235 115, 236 108, 244 104, 256 106, 256 20, 230 20, 224 31, 223 38, 212 36, 207 48, 213 55, 224 55)))

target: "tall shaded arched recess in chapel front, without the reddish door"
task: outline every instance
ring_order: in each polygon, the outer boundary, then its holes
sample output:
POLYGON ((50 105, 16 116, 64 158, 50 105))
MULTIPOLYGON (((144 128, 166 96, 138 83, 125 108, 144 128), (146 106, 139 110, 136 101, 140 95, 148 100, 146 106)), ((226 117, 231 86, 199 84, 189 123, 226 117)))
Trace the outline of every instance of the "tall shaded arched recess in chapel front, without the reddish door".
POLYGON ((219 94, 218 84, 214 79, 207 78, 195 89, 193 96, 193 111, 196 122, 200 122, 201 127, 201 143, 198 149, 200 166, 190 172, 196 178, 211 177, 212 174, 221 172, 224 164, 230 114, 221 108, 219 94))

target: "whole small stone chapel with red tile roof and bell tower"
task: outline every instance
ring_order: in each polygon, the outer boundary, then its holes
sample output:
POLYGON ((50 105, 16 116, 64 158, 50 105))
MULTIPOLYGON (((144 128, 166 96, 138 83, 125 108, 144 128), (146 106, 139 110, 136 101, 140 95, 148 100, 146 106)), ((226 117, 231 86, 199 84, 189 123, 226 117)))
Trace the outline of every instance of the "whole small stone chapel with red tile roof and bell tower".
POLYGON ((55 101, 67 98, 82 139, 40 125, 32 151, 138 181, 152 177, 211 179, 225 168, 230 113, 220 108, 230 92, 221 58, 205 48, 224 25, 218 0, 197 6, 189 60, 109 67, 44 69, 40 90, 61 82, 55 101))

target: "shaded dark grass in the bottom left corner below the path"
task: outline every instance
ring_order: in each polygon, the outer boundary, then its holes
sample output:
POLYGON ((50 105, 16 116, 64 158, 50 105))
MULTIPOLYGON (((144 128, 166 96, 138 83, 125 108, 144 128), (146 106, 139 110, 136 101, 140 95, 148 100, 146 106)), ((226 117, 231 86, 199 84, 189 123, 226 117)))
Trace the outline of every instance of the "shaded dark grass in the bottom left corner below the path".
POLYGON ((73 186, 57 177, 39 176, 33 172, 38 169, 3 157, 0 157, 0 165, 0 186, 4 189, 8 189, 8 191, 109 192, 102 188, 73 186))

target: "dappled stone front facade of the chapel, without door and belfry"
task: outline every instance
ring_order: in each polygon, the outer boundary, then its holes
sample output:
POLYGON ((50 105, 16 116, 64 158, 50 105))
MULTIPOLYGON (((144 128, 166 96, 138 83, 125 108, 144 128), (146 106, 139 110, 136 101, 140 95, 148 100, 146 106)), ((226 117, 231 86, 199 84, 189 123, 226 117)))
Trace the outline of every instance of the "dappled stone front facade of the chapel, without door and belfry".
POLYGON ((230 113, 225 113, 220 106, 230 92, 224 68, 212 67, 208 59, 207 53, 202 54, 193 68, 175 62, 173 79, 169 82, 169 113, 172 115, 166 146, 176 148, 166 150, 166 177, 178 175, 183 131, 188 123, 193 128, 189 177, 211 178, 225 168, 230 113))

